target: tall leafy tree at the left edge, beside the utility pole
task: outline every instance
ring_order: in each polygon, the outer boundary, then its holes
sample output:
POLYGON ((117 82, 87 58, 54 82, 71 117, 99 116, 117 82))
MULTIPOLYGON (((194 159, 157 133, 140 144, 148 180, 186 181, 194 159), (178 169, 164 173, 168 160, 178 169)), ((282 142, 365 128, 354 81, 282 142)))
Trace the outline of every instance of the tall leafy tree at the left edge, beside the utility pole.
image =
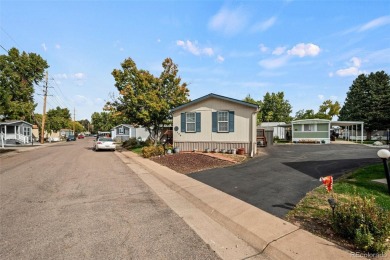
POLYGON ((35 53, 20 53, 12 48, 0 55, 0 115, 3 120, 20 119, 33 122, 34 84, 44 78, 49 66, 35 53))

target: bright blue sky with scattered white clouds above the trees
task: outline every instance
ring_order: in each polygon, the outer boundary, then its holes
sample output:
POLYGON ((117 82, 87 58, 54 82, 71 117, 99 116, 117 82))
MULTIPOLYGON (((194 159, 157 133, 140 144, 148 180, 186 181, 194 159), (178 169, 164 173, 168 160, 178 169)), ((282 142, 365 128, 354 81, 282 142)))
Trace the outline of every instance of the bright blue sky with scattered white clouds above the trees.
POLYGON ((283 91, 292 115, 343 104, 361 73, 390 73, 388 0, 0 0, 0 27, 3 48, 47 60, 47 109, 75 109, 76 120, 118 94, 111 72, 126 58, 155 76, 172 58, 191 99, 283 91))

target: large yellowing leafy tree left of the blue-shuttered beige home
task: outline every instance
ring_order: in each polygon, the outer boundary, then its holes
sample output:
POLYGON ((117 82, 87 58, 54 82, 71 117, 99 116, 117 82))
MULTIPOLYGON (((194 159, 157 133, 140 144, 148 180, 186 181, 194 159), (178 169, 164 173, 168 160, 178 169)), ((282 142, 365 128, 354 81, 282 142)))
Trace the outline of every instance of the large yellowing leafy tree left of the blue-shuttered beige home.
POLYGON ((138 69, 131 58, 121 66, 112 72, 120 96, 107 106, 129 123, 145 127, 156 144, 161 127, 170 120, 170 110, 188 102, 187 84, 181 83, 178 67, 170 58, 163 61, 159 77, 138 69))

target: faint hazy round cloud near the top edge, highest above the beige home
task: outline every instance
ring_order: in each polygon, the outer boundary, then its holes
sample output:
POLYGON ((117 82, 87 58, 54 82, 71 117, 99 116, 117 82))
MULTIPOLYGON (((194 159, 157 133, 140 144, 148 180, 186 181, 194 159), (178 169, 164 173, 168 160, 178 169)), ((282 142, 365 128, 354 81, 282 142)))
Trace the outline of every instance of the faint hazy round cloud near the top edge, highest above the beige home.
POLYGON ((209 21, 209 28, 227 35, 240 32, 247 24, 248 14, 241 8, 229 10, 222 8, 209 21))

